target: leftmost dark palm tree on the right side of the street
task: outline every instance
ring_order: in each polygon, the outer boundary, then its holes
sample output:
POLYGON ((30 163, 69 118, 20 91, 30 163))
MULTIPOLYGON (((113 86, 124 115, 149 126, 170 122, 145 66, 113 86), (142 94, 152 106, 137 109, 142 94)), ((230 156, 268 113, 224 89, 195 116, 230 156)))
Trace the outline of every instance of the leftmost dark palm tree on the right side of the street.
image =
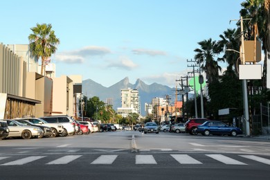
POLYGON ((217 61, 223 60, 222 58, 217 58, 215 60, 215 55, 219 54, 222 49, 218 46, 216 41, 212 39, 204 40, 198 42, 201 48, 196 48, 194 51, 197 53, 195 55, 195 60, 199 63, 203 63, 201 68, 206 71, 206 79, 208 83, 211 83, 218 79, 219 71, 222 70, 221 66, 218 65, 217 61))

